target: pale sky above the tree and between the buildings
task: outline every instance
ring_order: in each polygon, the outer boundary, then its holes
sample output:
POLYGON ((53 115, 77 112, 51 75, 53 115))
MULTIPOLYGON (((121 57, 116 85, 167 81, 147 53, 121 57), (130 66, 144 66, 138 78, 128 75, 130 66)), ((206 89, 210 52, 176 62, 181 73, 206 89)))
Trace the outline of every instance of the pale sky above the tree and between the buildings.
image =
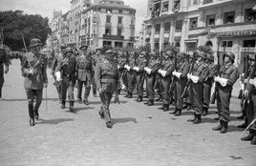
MULTIPOLYGON (((71 0, 0 0, 0 10, 23 10, 28 14, 40 14, 52 19, 53 10, 70 10, 71 0)), ((146 0, 123 0, 125 5, 137 10, 136 33, 141 29, 141 23, 146 14, 146 0)))

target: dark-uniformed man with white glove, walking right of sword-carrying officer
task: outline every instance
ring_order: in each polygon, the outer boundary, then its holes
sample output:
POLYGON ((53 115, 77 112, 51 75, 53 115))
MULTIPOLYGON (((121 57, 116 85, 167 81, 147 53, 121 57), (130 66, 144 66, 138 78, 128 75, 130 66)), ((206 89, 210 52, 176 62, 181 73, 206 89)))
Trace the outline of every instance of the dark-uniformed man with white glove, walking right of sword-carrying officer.
POLYGON ((65 108, 66 97, 68 91, 68 97, 70 101, 70 112, 74 113, 74 87, 75 87, 75 57, 73 57, 73 50, 71 48, 66 48, 64 52, 64 58, 61 59, 56 67, 57 75, 61 75, 61 77, 57 77, 58 81, 61 80, 61 109, 65 108))

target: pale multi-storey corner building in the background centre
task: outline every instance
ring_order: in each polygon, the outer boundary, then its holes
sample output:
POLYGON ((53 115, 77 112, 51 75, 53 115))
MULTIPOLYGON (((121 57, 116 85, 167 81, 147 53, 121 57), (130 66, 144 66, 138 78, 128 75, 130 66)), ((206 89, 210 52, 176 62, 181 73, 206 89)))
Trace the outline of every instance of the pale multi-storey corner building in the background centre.
POLYGON ((90 49, 105 45, 134 47, 136 10, 121 0, 101 0, 82 12, 81 43, 90 49))

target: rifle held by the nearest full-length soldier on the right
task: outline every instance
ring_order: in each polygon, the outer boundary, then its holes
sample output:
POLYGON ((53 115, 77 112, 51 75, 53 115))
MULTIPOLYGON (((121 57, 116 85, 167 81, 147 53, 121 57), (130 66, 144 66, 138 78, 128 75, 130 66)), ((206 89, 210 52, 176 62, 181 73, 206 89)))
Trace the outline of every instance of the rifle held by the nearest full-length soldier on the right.
MULTIPOLYGON (((225 53, 225 47, 224 47, 224 53, 225 53)), ((221 75, 220 69, 223 65, 221 64, 221 58, 220 58, 220 53, 219 53, 219 45, 218 45, 217 58, 218 58, 218 64, 216 65, 215 72, 217 73, 216 74, 217 76, 220 76, 221 75)), ((224 63, 224 56, 223 56, 223 63, 224 63)), ((211 95, 210 104, 215 104, 215 100, 217 98, 217 91, 219 89, 219 86, 220 85, 219 85, 218 82, 214 82, 213 93, 211 95)))

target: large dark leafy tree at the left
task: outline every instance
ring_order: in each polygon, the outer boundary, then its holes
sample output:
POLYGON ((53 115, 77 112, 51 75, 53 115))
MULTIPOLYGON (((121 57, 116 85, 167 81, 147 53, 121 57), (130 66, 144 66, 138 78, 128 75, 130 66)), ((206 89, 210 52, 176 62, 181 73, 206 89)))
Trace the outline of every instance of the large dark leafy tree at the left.
POLYGON ((28 47, 36 37, 44 44, 51 29, 48 17, 39 14, 24 14, 22 10, 0 11, 0 28, 4 31, 4 44, 13 51, 24 50, 22 35, 28 47))

